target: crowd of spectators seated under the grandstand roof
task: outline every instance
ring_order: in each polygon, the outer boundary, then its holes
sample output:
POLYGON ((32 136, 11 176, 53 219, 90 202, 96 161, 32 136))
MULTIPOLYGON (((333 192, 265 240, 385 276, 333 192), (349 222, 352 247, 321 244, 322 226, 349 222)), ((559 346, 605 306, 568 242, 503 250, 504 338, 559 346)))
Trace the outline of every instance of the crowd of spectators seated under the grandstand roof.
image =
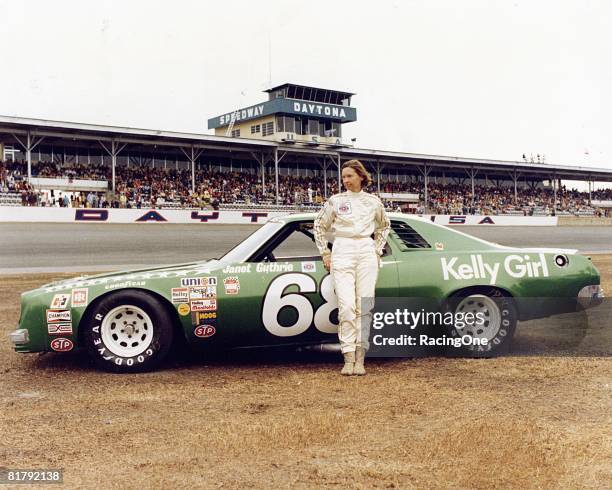
MULTIPOLYGON (((108 167, 83 164, 59 165, 37 162, 32 167, 35 177, 103 180, 110 182, 108 167)), ((116 168, 116 192, 40 192, 27 180, 24 163, 0 163, 0 192, 21 196, 24 206, 61 207, 117 207, 117 208, 218 208, 220 205, 269 205, 276 201, 275 179, 266 175, 265 186, 261 176, 249 172, 220 172, 209 169, 196 171, 196 186, 192 191, 191 171, 163 169, 151 166, 116 168)), ((279 203, 286 206, 320 205, 324 200, 324 183, 321 177, 279 175, 279 203)), ((371 191, 377 190, 374 184, 371 191)), ((412 193, 419 202, 413 212, 425 211, 422 182, 381 181, 381 192, 412 193)), ((561 187, 555 193, 550 188, 519 185, 515 198, 514 187, 476 185, 472 196, 469 182, 428 184, 428 211, 435 214, 596 214, 589 205, 588 192, 561 187)), ((327 195, 338 192, 337 180, 328 179, 327 195)), ((594 200, 612 201, 612 189, 593 191, 594 200)), ((396 208, 398 203, 387 203, 396 208)))

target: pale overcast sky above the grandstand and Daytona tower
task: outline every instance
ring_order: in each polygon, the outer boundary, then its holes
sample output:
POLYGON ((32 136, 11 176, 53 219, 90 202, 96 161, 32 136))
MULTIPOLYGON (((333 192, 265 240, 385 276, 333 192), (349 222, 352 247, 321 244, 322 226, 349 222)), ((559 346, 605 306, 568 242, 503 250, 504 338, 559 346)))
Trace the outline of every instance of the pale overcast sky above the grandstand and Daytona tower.
POLYGON ((210 134, 209 117, 293 82, 356 92, 344 139, 360 148, 612 168, 610 1, 0 0, 0 12, 2 115, 210 134))

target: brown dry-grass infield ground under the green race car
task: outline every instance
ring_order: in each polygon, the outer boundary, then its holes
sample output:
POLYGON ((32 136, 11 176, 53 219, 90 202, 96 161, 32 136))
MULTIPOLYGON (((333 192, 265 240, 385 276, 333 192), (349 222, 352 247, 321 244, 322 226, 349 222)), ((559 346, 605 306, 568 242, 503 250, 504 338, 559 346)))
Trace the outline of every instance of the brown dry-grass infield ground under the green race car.
MULTIPOLYGON (((612 256, 593 260, 611 294, 612 256)), ((0 278, 0 466, 101 488, 612 481, 610 329, 568 350, 521 325, 507 357, 373 360, 363 378, 335 356, 269 352, 120 376, 78 353, 12 352, 19 294, 57 277, 0 278)))

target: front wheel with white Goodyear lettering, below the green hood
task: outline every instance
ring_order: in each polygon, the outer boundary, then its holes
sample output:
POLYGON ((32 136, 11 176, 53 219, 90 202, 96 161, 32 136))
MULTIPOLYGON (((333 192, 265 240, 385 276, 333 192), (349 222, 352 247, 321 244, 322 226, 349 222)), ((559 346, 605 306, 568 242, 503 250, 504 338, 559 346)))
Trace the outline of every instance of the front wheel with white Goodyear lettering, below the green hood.
POLYGON ((112 293, 92 305, 84 320, 83 345, 93 363, 106 371, 151 371, 172 346, 171 315, 144 291, 112 293))

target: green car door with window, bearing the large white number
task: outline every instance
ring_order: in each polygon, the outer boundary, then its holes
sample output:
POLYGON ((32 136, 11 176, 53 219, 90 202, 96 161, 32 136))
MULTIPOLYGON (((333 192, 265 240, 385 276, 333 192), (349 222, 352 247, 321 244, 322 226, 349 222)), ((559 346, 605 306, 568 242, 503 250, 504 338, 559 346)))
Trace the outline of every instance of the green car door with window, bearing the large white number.
MULTIPOLYGON (((377 296, 397 294, 397 263, 388 252, 377 296)), ((219 307, 223 321, 235 326, 237 346, 337 340, 337 298, 314 244, 312 219, 287 223, 246 262, 220 272, 220 283, 231 278, 240 284, 238 294, 222 297, 219 307)))

